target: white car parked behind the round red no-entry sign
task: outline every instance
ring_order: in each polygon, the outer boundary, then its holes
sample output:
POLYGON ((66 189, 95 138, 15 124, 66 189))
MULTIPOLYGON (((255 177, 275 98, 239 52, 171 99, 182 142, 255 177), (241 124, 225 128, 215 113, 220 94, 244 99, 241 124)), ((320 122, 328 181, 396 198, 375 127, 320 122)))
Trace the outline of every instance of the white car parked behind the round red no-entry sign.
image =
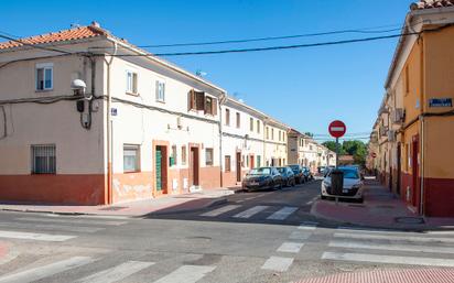
POLYGON ((363 191, 364 182, 359 171, 352 166, 338 167, 337 170, 344 173, 344 187, 340 195, 334 195, 332 189, 331 175, 333 170, 328 172, 322 182, 321 186, 321 198, 326 199, 327 197, 339 197, 339 198, 352 198, 360 203, 364 200, 363 191))

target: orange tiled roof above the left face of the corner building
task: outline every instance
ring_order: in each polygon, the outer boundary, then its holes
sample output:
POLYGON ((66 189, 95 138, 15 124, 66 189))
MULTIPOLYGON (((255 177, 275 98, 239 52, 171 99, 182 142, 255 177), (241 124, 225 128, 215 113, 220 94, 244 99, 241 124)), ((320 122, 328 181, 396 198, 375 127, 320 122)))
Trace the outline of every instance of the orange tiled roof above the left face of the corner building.
POLYGON ((53 43, 53 42, 63 42, 63 41, 73 41, 73 40, 82 40, 82 39, 89 39, 96 37, 101 35, 108 35, 109 33, 99 28, 99 24, 93 22, 90 25, 87 26, 79 26, 69 30, 64 30, 60 32, 51 32, 47 34, 35 35, 25 39, 19 39, 18 41, 8 41, 0 43, 0 50, 8 50, 13 47, 20 47, 25 44, 44 44, 44 43, 53 43), (23 43, 21 43, 23 42, 23 43))

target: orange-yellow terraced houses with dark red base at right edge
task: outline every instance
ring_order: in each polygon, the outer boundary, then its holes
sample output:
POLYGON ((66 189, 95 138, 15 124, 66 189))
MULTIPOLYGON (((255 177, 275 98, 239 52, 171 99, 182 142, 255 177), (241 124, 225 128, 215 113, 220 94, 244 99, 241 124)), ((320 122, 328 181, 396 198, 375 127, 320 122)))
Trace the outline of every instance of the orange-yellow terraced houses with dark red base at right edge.
POLYGON ((378 170, 422 215, 454 216, 454 2, 411 6, 375 135, 378 170))

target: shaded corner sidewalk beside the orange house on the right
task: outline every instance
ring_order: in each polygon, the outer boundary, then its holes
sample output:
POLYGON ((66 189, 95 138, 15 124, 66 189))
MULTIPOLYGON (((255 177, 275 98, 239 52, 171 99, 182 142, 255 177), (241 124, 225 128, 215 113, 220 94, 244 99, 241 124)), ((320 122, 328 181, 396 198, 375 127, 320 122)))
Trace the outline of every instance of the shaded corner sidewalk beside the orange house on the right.
POLYGON ((366 179, 364 204, 318 199, 311 214, 344 225, 408 230, 454 229, 454 218, 421 217, 375 179, 366 179))

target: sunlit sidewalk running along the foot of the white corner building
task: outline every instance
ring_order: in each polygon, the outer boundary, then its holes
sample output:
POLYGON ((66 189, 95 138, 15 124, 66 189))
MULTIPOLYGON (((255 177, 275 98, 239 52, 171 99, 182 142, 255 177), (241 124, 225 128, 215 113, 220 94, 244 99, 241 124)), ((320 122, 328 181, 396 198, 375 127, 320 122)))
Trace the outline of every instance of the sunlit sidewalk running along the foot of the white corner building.
POLYGON ((216 188, 190 194, 169 195, 153 199, 143 199, 106 206, 0 204, 0 210, 48 213, 62 215, 140 217, 151 213, 184 213, 202 209, 215 204, 226 203, 226 196, 234 193, 235 192, 231 189, 216 188))

